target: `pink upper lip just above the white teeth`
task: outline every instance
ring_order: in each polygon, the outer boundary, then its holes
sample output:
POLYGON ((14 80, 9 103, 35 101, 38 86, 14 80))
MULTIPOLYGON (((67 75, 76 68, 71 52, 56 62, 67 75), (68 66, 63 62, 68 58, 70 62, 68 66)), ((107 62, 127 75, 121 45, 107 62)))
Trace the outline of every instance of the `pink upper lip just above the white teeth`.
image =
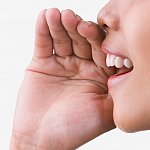
POLYGON ((121 58, 128 58, 127 56, 121 54, 119 51, 117 51, 116 49, 111 48, 106 42, 102 43, 101 46, 101 50, 102 52, 104 52, 105 54, 111 54, 111 55, 115 55, 115 56, 119 56, 121 58))

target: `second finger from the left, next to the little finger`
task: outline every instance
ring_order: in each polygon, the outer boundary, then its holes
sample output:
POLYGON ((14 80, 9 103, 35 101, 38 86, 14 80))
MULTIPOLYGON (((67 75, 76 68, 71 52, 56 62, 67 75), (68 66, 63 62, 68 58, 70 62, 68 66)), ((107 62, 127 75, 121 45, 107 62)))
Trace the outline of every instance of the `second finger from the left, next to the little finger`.
POLYGON ((61 23, 61 15, 57 8, 46 12, 46 19, 53 38, 53 47, 57 55, 65 57, 72 54, 71 39, 61 23))

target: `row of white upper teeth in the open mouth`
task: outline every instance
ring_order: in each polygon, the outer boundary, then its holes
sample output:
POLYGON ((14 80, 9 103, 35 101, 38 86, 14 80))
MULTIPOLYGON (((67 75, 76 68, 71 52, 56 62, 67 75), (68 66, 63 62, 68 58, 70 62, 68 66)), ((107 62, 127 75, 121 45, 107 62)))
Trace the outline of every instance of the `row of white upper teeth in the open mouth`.
POLYGON ((106 65, 108 67, 115 66, 116 68, 122 68, 123 66, 125 66, 127 68, 133 67, 132 61, 129 60, 128 58, 123 59, 119 56, 115 56, 115 55, 111 55, 111 54, 107 54, 106 65))

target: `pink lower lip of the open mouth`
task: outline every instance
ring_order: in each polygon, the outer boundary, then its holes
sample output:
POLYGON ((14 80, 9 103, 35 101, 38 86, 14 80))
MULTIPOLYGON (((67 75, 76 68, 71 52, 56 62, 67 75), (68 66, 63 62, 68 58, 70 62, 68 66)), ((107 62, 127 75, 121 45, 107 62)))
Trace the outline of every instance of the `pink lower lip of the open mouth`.
POLYGON ((111 76, 108 79, 108 88, 110 89, 110 88, 114 87, 115 85, 121 83, 123 80, 128 79, 130 74, 131 74, 131 71, 124 73, 124 74, 115 74, 115 75, 111 76))

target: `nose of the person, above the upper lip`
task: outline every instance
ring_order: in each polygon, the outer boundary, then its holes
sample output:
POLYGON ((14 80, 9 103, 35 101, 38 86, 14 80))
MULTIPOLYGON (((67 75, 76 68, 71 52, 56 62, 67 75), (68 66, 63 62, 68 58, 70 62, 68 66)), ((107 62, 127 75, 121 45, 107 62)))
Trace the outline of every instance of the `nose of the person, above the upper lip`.
POLYGON ((108 2, 101 11, 98 13, 97 22, 100 27, 106 31, 118 30, 119 28, 119 16, 118 10, 115 9, 115 5, 112 2, 108 2))

